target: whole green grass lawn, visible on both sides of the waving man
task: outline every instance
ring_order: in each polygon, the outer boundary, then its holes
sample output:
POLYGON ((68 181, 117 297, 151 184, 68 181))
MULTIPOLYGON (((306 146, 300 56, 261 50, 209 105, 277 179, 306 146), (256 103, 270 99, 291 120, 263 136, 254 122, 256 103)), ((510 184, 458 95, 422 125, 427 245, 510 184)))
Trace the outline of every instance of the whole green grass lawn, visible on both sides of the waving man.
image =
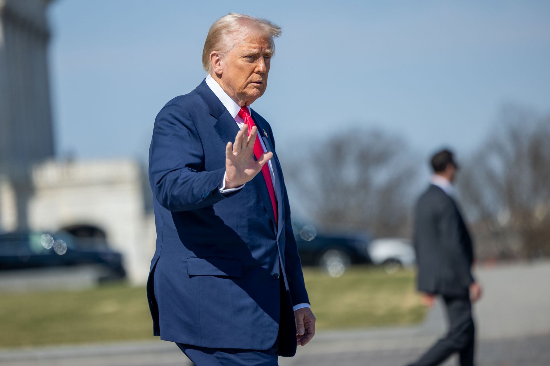
MULTIPOLYGON (((305 269, 319 329, 419 322, 425 313, 409 270, 354 267, 340 278, 305 269)), ((0 347, 153 339, 145 287, 0 294, 0 347)))

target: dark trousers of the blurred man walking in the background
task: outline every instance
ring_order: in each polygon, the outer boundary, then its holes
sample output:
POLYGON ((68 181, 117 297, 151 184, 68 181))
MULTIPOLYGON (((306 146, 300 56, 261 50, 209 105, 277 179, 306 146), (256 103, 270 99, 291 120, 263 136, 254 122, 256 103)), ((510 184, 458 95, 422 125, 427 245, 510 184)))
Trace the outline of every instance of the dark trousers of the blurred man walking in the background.
POLYGON ((474 365, 474 319, 469 294, 443 296, 449 318, 449 332, 411 366, 439 365, 458 352, 460 366, 474 365))

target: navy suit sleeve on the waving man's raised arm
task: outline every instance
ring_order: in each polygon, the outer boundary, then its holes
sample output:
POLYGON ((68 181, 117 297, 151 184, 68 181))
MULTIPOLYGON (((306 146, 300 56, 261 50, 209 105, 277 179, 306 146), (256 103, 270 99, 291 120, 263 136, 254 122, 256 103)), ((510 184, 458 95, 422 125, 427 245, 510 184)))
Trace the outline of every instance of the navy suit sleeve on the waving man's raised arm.
POLYGON ((225 171, 204 171, 199 132, 183 107, 169 104, 161 109, 149 150, 149 179, 162 207, 170 211, 200 209, 236 194, 238 191, 229 195, 219 192, 225 171))

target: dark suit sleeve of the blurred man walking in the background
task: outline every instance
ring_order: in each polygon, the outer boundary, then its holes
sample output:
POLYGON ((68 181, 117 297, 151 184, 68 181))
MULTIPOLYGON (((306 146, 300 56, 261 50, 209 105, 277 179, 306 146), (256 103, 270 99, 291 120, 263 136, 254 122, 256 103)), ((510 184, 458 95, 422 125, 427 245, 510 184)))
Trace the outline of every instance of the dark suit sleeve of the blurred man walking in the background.
POLYGON ((442 245, 453 272, 464 287, 468 287, 474 282, 474 277, 471 274, 471 262, 466 253, 466 243, 464 242, 465 233, 460 224, 460 213, 454 204, 445 205, 441 220, 439 221, 440 231, 442 235, 442 245))

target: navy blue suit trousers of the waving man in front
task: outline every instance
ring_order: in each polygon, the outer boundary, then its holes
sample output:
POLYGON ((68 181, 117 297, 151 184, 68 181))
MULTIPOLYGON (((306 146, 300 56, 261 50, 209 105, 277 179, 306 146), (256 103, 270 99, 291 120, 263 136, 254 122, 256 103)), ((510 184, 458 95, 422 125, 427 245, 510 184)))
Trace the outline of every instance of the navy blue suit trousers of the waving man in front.
MULTIPOLYGON (((283 324, 287 323, 284 321, 284 317, 288 317, 290 314, 285 314, 284 312, 284 309, 286 309, 289 304, 284 288, 283 276, 281 276, 279 280, 281 281, 281 286, 279 286, 279 291, 281 293, 279 332, 273 347, 270 349, 259 351, 239 350, 234 348, 207 348, 184 345, 183 343, 176 343, 176 345, 196 366, 277 366, 279 341, 287 340, 289 334, 295 334, 295 329, 288 330, 283 326, 283 324)), ((295 339, 287 341, 296 342, 295 339)))

